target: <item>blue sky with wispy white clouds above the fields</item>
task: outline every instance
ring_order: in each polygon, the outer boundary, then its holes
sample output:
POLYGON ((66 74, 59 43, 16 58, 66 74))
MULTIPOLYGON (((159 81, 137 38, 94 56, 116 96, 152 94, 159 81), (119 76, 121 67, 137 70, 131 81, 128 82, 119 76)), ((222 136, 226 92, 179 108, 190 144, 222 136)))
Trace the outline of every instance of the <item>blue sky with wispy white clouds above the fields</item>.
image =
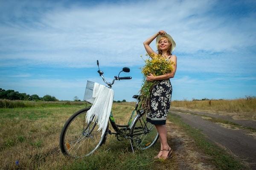
POLYGON ((0 1, 0 88, 83 99, 98 59, 109 81, 131 68, 113 89, 133 101, 159 30, 177 45, 172 100, 256 96, 255 0, 0 1))

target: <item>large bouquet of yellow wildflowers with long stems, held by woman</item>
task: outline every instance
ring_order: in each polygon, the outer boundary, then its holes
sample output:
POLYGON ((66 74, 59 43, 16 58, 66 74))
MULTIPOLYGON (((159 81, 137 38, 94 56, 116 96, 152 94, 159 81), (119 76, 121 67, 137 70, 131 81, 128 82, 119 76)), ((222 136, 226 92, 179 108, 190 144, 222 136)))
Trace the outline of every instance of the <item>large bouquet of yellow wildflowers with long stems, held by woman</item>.
MULTIPOLYGON (((145 61, 145 66, 141 68, 144 75, 142 88, 140 89, 140 106, 142 105, 146 111, 149 111, 150 107, 150 95, 153 86, 157 81, 147 82, 146 76, 148 74, 153 74, 154 76, 160 76, 172 72, 174 62, 166 60, 161 54, 151 54, 152 59, 146 54, 148 59, 143 59, 145 61)), ((140 56, 142 57, 142 55, 140 56)))

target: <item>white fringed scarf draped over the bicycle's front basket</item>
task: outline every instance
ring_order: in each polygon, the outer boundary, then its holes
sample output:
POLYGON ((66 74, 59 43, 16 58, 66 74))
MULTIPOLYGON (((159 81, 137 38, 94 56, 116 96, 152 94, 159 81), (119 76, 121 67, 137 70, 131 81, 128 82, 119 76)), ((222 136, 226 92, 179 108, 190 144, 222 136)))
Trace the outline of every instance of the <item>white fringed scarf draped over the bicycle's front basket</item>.
POLYGON ((96 121, 99 125, 99 129, 102 129, 102 136, 105 133, 105 130, 108 126, 108 119, 111 113, 111 108, 113 104, 114 91, 111 88, 108 88, 99 83, 94 83, 93 87, 93 97, 95 100, 92 107, 87 111, 86 122, 96 121), (95 118, 92 120, 93 116, 95 118))

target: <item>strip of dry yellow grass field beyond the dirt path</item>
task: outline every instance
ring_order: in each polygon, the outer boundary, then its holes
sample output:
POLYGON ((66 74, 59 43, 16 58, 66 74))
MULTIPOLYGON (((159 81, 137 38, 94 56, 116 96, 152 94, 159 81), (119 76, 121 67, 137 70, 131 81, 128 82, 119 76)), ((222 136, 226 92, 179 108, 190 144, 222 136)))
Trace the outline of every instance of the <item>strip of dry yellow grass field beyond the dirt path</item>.
POLYGON ((217 113, 238 113, 241 118, 256 120, 256 99, 172 101, 171 106, 217 113))

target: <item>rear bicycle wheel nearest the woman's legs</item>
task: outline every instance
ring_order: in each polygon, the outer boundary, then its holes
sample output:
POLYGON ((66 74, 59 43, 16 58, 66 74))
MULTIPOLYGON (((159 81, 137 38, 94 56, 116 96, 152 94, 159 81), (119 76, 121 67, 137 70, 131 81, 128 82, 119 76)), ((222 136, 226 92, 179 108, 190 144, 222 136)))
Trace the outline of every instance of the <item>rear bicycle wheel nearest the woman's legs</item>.
POLYGON ((153 146, 159 137, 157 128, 146 121, 146 114, 135 120, 131 128, 132 142, 137 149, 148 149, 153 146))

